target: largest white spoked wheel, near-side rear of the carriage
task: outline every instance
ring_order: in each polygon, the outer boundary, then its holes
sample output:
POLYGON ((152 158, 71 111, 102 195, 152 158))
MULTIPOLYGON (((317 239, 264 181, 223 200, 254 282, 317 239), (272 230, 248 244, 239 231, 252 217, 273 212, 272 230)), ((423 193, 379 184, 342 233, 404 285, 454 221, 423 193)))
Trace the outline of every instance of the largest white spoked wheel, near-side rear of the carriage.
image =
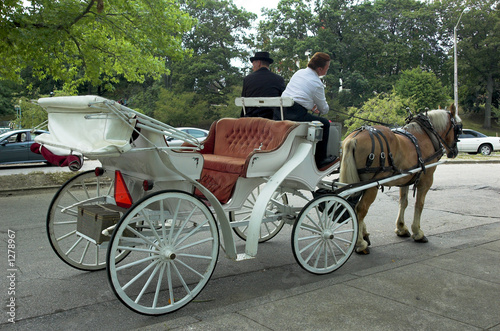
POLYGON ((133 311, 171 313, 201 292, 218 255, 217 223, 208 207, 186 192, 160 191, 134 204, 117 225, 108 248, 108 279, 133 311), (123 250, 130 254, 118 265, 123 250))

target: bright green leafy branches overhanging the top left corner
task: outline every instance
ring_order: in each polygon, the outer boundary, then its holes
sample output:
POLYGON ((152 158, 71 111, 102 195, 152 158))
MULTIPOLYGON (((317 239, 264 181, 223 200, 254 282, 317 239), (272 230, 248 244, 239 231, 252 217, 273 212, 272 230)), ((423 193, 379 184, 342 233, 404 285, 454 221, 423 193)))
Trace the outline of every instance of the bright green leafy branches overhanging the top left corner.
POLYGON ((33 0, 0 6, 0 78, 20 80, 30 67, 75 92, 166 73, 165 59, 187 54, 181 35, 193 20, 176 0, 33 0))

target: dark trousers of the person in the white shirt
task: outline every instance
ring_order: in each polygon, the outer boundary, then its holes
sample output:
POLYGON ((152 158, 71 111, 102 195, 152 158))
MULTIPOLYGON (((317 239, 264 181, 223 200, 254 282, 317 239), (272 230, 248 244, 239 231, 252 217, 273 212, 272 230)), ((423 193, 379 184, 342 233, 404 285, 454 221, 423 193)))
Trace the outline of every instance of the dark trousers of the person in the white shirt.
MULTIPOLYGON (((283 109, 285 120, 295 122, 319 121, 323 123, 323 139, 316 144, 316 162, 321 162, 327 155, 328 137, 330 135, 330 121, 324 117, 315 116, 307 111, 302 105, 294 103, 290 108, 283 109)), ((280 110, 274 111, 274 119, 281 120, 280 110)))

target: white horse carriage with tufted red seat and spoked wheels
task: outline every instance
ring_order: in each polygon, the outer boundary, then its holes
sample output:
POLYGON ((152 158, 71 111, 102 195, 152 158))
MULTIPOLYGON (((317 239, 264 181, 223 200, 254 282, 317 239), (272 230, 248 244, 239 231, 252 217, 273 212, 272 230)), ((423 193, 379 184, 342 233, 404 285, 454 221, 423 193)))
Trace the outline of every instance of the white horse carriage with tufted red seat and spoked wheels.
MULTIPOLYGON (((292 102, 237 99, 242 106, 292 102)), ((333 272, 349 259, 358 232, 366 234, 346 198, 420 171, 361 186, 327 180, 340 163, 316 167, 319 122, 223 118, 200 144, 101 97, 38 103, 49 115, 50 134, 36 138, 41 149, 102 164, 70 179, 54 196, 47 214, 50 243, 74 268, 106 268, 117 297, 142 314, 182 308, 207 284, 220 248, 234 261, 254 258, 258 244, 284 224, 293 226, 292 250, 302 268, 333 272), (169 137, 185 143, 169 147, 169 137), (318 189, 323 194, 311 198, 318 189), (246 240, 243 252, 237 252, 234 234, 246 240)), ((330 136, 339 155, 340 132, 330 136)))

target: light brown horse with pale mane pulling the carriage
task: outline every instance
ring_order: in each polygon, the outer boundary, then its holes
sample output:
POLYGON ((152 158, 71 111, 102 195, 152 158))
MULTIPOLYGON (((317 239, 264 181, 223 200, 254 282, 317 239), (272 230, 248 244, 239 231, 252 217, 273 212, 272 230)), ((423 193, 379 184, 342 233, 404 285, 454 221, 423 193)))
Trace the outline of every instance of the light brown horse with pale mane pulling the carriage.
MULTIPOLYGON (((409 186, 416 187, 415 213, 411 226, 412 237, 417 242, 427 242, 420 229, 420 215, 429 191, 436 167, 425 168, 425 164, 437 162, 443 150, 449 158, 458 154, 457 141, 462 123, 455 108, 429 111, 407 119, 402 129, 391 130, 385 126, 362 127, 352 132, 342 143, 340 182, 351 184, 390 177, 405 171, 421 168, 413 175, 390 181, 385 186, 399 186, 399 213, 396 220, 396 234, 409 237, 404 212, 408 206, 409 186)), ((375 201, 378 187, 362 193, 356 205, 359 233, 356 252, 368 254, 369 233, 364 222, 370 205, 375 201)))

